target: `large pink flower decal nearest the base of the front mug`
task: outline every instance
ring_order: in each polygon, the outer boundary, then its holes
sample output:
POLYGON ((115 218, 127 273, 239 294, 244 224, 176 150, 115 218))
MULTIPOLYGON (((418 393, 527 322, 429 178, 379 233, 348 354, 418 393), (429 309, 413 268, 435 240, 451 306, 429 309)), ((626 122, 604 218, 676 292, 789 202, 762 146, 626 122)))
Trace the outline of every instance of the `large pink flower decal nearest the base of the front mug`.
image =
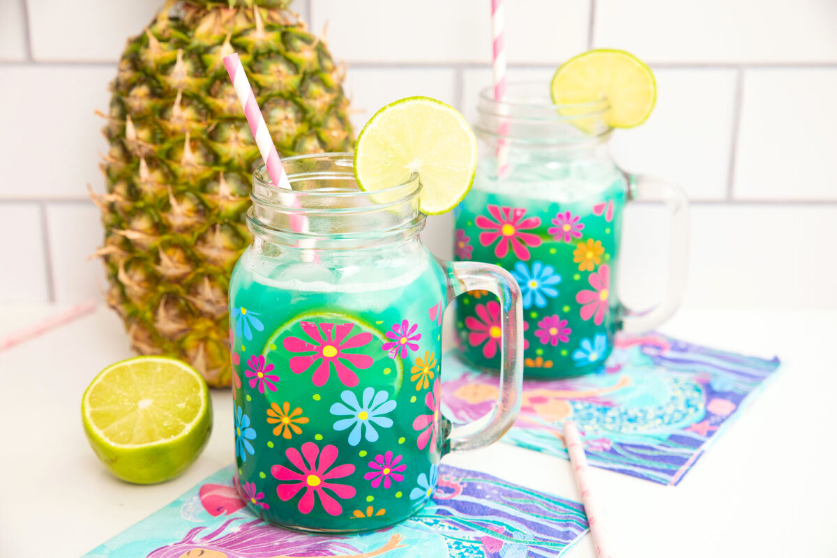
POLYGON ((328 470, 334 464, 337 458, 337 448, 334 446, 326 446, 320 448, 313 442, 306 442, 302 444, 302 455, 295 448, 287 448, 285 456, 294 467, 300 470, 300 473, 292 471, 284 465, 274 465, 270 468, 270 474, 273 474, 277 480, 293 480, 293 484, 280 484, 276 487, 276 494, 283 502, 287 502, 300 492, 301 489, 306 489, 305 494, 302 494, 297 508, 301 514, 310 514, 311 509, 314 509, 314 494, 320 497, 320 502, 326 514, 339 515, 343 508, 331 494, 326 490, 333 492, 337 498, 347 499, 352 498, 356 494, 356 490, 348 484, 336 484, 328 482, 331 479, 342 479, 355 472, 355 466, 351 463, 338 465, 328 470), (317 465, 317 456, 320 456, 320 463, 317 465), (305 456, 305 461, 302 460, 305 456))

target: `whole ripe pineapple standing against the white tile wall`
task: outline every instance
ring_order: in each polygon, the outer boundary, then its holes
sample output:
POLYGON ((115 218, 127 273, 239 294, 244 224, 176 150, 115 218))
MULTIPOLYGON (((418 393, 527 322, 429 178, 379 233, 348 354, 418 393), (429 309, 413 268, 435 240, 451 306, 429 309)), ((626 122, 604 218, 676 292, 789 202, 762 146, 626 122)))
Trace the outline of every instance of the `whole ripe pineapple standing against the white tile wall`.
POLYGON ((352 148, 343 71, 289 0, 170 0, 122 54, 99 255, 136 351, 228 386, 227 287, 259 165, 222 58, 239 52, 280 155, 352 148))

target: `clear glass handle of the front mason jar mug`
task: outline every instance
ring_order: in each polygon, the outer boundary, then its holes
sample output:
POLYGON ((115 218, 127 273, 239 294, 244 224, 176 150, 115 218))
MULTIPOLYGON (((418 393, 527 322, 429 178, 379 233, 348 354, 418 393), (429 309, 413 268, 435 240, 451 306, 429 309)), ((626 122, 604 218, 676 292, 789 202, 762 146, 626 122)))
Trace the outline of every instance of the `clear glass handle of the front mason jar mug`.
MULTIPOLYGON (((449 451, 460 452, 494 443, 514 424, 523 391, 523 305, 521 289, 499 266, 477 262, 448 262, 448 303, 470 290, 487 290, 500 299, 500 395, 494 409, 474 422, 454 426, 449 451)), ((447 445, 447 444, 446 444, 447 445)))

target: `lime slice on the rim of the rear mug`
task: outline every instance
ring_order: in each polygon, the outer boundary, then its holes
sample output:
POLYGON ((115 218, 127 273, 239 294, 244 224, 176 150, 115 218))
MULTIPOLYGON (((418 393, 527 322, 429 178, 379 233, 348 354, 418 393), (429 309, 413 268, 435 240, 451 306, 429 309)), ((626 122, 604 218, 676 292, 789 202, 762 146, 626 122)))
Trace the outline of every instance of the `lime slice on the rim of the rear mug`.
POLYGON ((657 84, 651 69, 624 50, 595 49, 567 60, 552 76, 556 105, 610 103, 608 124, 632 128, 654 109, 657 84))

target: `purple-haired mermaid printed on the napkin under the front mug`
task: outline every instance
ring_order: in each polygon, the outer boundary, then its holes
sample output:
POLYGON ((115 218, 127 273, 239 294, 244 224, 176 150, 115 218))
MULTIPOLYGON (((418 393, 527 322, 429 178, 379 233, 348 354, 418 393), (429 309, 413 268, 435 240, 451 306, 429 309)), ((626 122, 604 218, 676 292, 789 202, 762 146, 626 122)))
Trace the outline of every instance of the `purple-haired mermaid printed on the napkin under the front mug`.
POLYGON ((205 536, 199 536, 205 528, 196 527, 182 540, 152 550, 147 558, 372 558, 403 547, 403 537, 393 535, 385 545, 364 553, 334 536, 280 530, 262 520, 232 525, 236 521, 227 520, 205 536))

